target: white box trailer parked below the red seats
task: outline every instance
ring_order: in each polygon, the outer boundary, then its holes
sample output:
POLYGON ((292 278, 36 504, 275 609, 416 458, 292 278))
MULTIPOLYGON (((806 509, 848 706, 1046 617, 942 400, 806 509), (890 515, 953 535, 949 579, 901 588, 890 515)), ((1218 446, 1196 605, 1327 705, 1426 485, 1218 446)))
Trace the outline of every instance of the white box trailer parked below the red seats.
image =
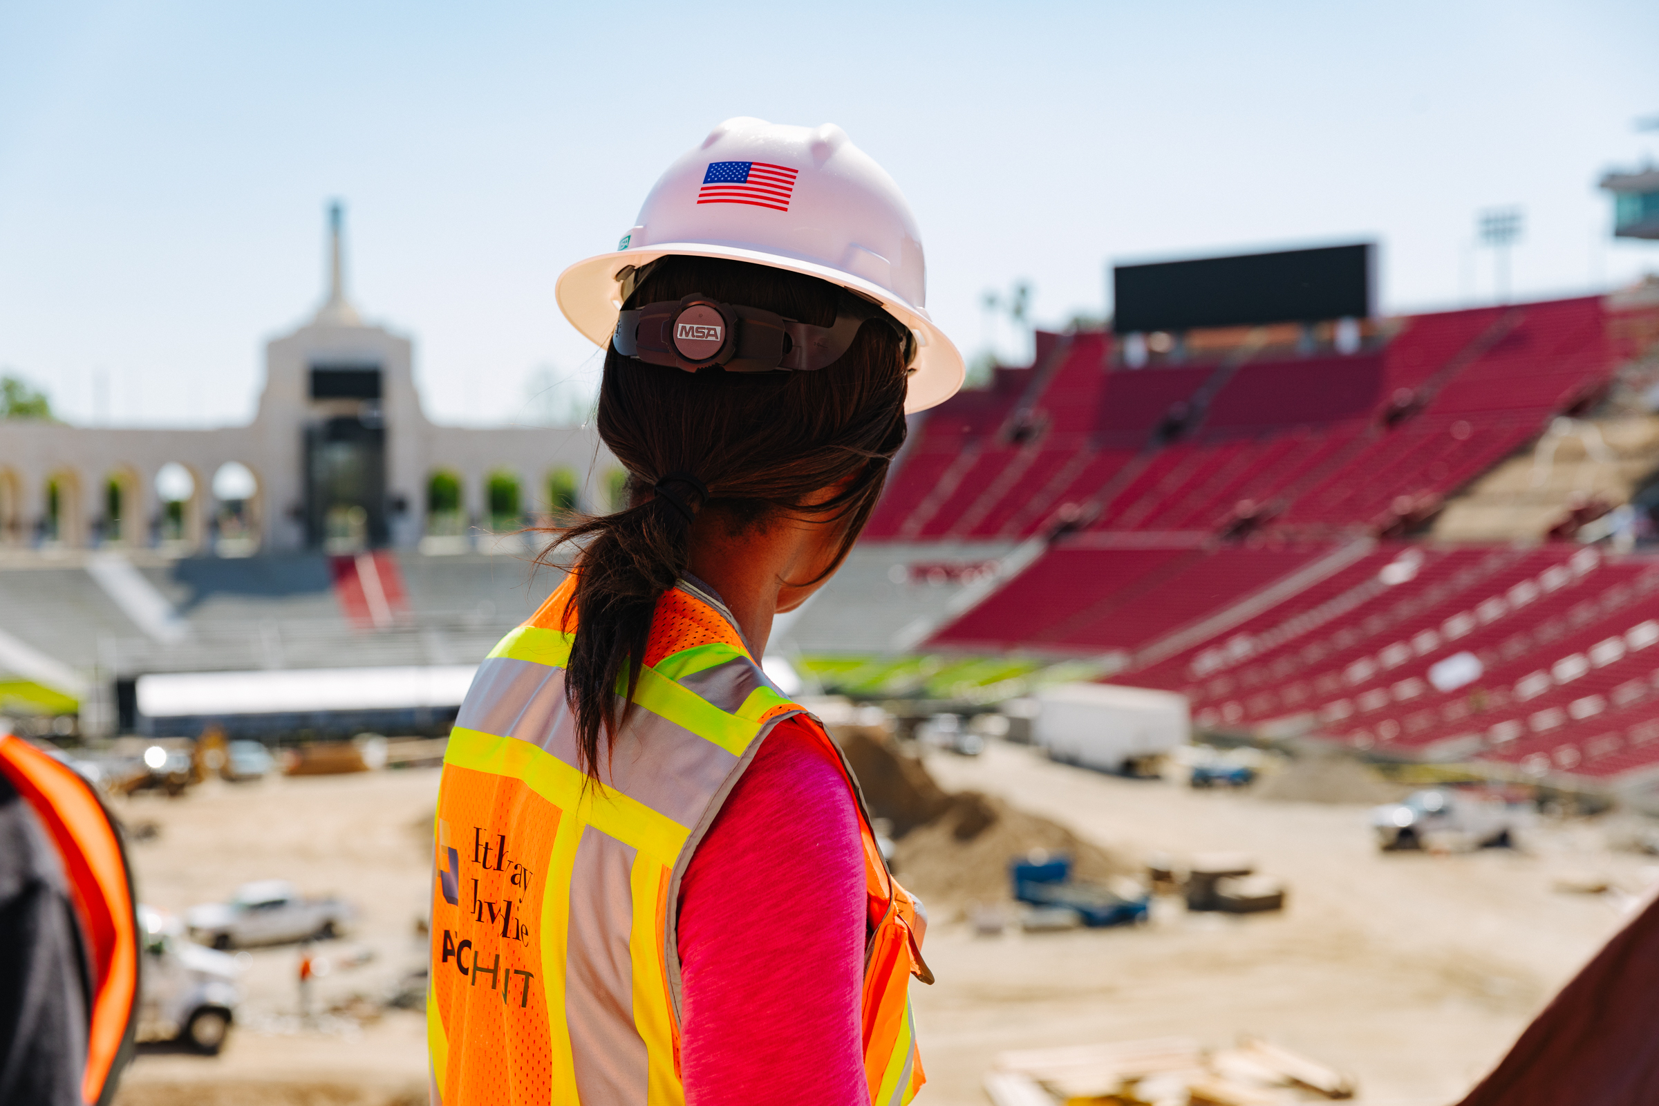
POLYGON ((1068 764, 1138 774, 1191 736, 1186 696, 1112 683, 1062 683, 1037 693, 1035 745, 1068 764))

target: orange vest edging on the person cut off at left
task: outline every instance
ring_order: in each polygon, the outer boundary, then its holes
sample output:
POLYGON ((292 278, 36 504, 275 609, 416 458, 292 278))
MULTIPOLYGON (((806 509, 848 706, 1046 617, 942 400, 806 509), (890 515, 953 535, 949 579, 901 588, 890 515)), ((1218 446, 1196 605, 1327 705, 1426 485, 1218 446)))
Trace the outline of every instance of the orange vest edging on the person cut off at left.
POLYGON ((138 1011, 138 910, 126 849, 98 793, 68 764, 0 733, 0 771, 58 849, 91 968, 91 1026, 81 1098, 114 1098, 133 1056, 138 1011))

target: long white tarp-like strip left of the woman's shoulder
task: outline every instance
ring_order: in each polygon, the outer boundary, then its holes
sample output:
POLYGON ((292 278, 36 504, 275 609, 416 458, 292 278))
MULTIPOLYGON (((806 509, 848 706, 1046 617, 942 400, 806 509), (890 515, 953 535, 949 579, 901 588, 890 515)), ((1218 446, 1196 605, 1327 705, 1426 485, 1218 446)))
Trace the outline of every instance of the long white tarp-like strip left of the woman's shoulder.
POLYGON ((146 718, 460 706, 478 665, 168 672, 138 678, 146 718))

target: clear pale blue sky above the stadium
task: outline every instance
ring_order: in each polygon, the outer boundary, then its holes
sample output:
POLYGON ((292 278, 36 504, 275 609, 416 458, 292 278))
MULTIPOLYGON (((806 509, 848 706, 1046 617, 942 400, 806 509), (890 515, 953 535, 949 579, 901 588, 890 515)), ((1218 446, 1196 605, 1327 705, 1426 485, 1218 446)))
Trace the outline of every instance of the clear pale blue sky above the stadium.
POLYGON ((559 270, 733 114, 893 172, 969 353, 985 289, 1098 315, 1113 259, 1369 237, 1385 308, 1483 302, 1493 206, 1526 212, 1518 295, 1606 287, 1659 269, 1594 187, 1659 151, 1656 43, 1651 0, 0 0, 0 366, 76 421, 242 421, 342 197, 428 413, 529 421, 531 381, 597 368, 559 270))

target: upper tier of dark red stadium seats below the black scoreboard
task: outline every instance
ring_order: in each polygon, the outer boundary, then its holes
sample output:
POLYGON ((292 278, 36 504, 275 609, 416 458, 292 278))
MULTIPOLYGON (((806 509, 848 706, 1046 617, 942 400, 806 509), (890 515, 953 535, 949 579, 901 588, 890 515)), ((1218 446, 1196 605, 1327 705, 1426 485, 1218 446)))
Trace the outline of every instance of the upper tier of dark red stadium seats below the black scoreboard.
POLYGON ((1039 335, 1030 368, 921 421, 868 537, 1385 532, 1601 393, 1606 333, 1576 298, 1417 315, 1350 357, 1141 370, 1105 333, 1039 335))

